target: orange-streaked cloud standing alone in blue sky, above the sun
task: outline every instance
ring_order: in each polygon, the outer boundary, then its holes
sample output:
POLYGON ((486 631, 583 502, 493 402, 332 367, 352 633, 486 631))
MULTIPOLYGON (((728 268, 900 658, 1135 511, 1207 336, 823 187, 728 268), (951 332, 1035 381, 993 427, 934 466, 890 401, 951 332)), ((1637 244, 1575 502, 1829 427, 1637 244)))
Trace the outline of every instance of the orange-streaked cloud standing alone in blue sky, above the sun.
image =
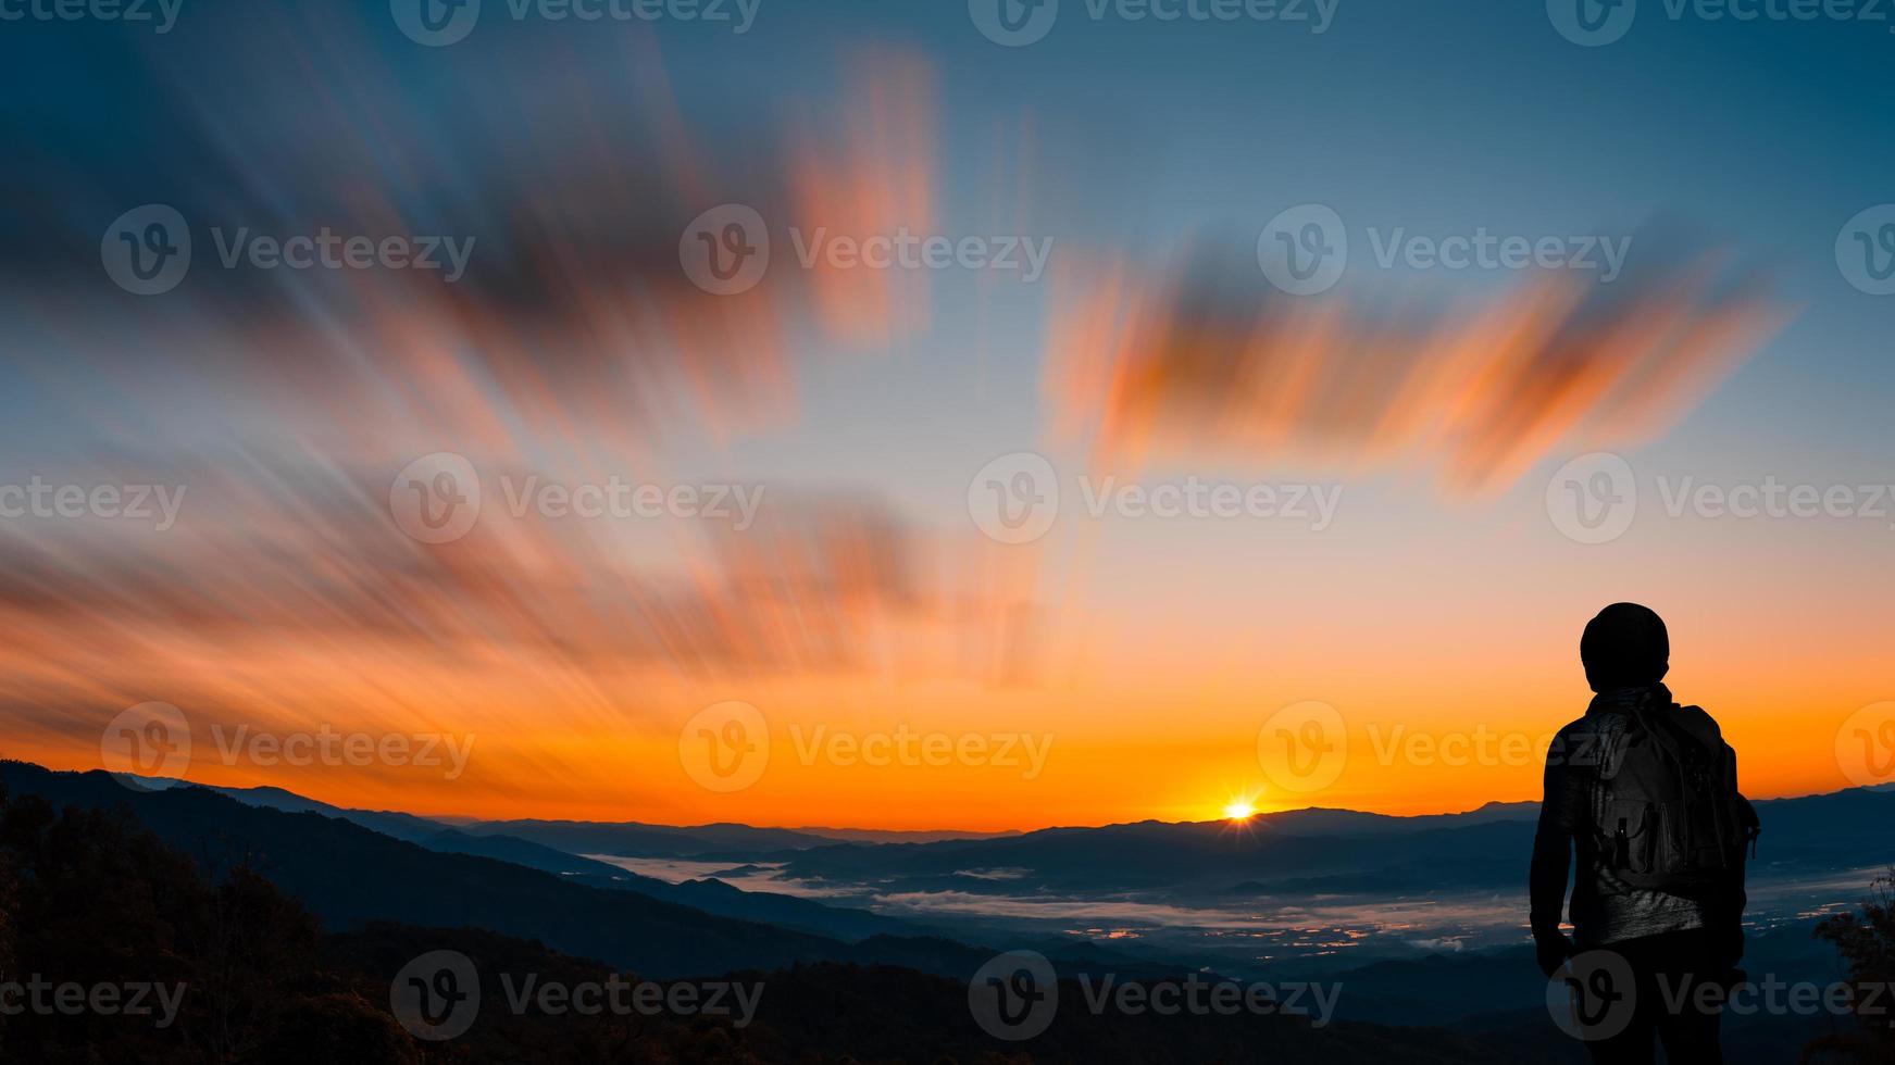
POLYGON ((1561 445, 1626 445, 1688 411, 1783 311, 1721 256, 1649 237, 1611 284, 1527 277, 1478 299, 1266 290, 1192 243, 1171 271, 1097 256, 1056 271, 1056 428, 1101 466, 1164 457, 1433 466, 1495 493, 1561 445), (1656 244, 1656 250, 1654 250, 1656 244))

